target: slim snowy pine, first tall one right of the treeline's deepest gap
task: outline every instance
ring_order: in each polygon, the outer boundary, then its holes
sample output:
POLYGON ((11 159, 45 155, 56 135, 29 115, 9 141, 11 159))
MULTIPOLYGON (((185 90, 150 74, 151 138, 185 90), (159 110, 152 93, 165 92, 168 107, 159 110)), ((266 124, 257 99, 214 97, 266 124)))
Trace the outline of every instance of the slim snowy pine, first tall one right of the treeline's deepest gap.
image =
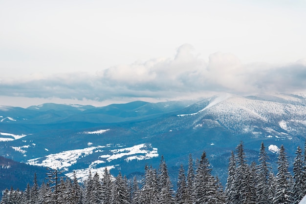
POLYGON ((231 152, 231 156, 228 164, 228 176, 225 186, 225 195, 227 204, 237 203, 237 190, 236 190, 236 157, 234 152, 231 152))

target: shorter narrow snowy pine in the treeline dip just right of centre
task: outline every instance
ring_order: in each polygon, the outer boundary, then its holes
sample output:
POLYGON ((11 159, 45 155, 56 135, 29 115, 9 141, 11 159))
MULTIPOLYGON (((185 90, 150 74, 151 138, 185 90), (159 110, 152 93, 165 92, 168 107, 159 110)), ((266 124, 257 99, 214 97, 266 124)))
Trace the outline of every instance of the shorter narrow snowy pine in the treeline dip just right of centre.
POLYGON ((186 204, 188 202, 186 176, 183 165, 180 165, 177 179, 177 190, 175 195, 176 204, 186 204))

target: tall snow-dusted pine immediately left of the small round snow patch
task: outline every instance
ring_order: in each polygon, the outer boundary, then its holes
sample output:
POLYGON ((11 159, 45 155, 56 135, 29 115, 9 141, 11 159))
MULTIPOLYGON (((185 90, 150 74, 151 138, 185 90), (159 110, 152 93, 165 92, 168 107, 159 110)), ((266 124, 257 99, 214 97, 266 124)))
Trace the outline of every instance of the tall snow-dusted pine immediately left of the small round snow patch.
POLYGON ((257 191, 257 203, 258 204, 270 204, 268 201, 268 189, 269 189, 269 169, 268 166, 270 163, 267 162, 269 160, 269 156, 265 152, 265 146, 262 143, 260 152, 259 152, 259 158, 258 158, 258 166, 257 166, 257 185, 256 185, 256 191, 257 191))

